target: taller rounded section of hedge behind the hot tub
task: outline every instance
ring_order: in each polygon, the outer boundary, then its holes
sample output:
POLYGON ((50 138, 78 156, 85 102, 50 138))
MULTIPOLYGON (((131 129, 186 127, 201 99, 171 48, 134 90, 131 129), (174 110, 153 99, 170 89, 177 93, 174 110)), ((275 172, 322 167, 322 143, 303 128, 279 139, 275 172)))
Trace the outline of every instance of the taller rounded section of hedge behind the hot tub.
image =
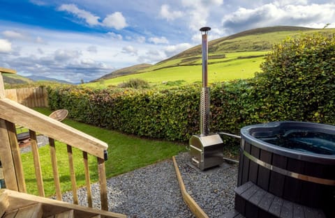
POLYGON ((334 123, 335 40, 322 35, 274 45, 253 80, 262 120, 334 123))

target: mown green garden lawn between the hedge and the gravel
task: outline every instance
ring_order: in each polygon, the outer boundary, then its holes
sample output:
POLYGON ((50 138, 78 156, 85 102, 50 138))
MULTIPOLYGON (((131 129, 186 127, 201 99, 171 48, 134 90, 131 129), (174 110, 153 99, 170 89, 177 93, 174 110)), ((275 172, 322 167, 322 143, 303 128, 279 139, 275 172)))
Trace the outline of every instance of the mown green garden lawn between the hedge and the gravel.
MULTIPOLYGON (((45 115, 49 115, 51 113, 49 109, 45 108, 36 108, 36 111, 45 115)), ((181 151, 186 150, 186 146, 181 146, 177 143, 169 141, 140 139, 138 137, 121 134, 119 132, 78 123, 70 119, 65 119, 63 122, 77 130, 90 134, 91 136, 108 143, 108 160, 105 162, 107 178, 117 176, 128 171, 133 171, 142 166, 160 162, 163 159, 168 159, 173 155, 177 155, 181 151)), ((56 149, 61 191, 66 192, 71 189, 66 144, 56 141, 56 149)), ((39 148, 39 154, 40 163, 42 164, 41 169, 45 185, 45 194, 46 196, 51 196, 55 193, 55 190, 49 146, 39 148)), ((73 156, 75 161, 74 164, 77 185, 80 187, 85 184, 82 152, 73 148, 73 156)), ((24 166, 24 177, 27 183, 27 192, 30 194, 38 194, 34 162, 31 153, 22 154, 22 164, 24 166)), ((96 157, 91 155, 89 155, 89 168, 91 182, 98 181, 96 157)))

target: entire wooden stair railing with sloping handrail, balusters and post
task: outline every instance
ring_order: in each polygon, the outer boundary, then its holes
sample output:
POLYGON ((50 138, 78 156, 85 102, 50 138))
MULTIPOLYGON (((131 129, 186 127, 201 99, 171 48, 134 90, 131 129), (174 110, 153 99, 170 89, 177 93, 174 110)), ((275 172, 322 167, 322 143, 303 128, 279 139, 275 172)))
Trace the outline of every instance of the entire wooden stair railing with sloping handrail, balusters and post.
MULTIPOLYGON (((0 68, 1 72, 1 68, 0 68)), ((54 120, 48 116, 38 113, 22 104, 5 98, 3 80, 0 75, 0 158, 3 166, 3 177, 6 188, 17 192, 27 192, 24 180, 24 170, 20 154, 20 147, 17 143, 15 124, 29 129, 31 139, 31 151, 34 157, 34 169, 39 196, 45 196, 43 176, 38 153, 36 132, 49 137, 50 158, 57 200, 61 201, 61 185, 57 166, 56 147, 54 140, 66 143, 68 150, 68 164, 70 169, 70 180, 73 189, 73 203, 78 203, 77 185, 75 180, 75 168, 73 164, 72 148, 82 150, 84 173, 86 178, 87 199, 89 207, 92 207, 91 182, 89 176, 88 155, 94 155, 98 162, 98 177, 101 189, 101 209, 108 210, 107 187, 105 177, 105 152, 107 143, 94 137, 75 130, 64 123, 54 120)))

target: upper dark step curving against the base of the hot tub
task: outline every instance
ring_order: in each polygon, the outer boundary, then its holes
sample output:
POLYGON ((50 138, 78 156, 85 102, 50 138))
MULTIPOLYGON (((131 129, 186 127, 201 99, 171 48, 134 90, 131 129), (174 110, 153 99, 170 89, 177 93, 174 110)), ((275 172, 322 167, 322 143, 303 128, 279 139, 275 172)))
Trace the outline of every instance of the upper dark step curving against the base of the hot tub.
POLYGON ((253 182, 246 182, 235 189, 235 210, 245 217, 256 218, 325 218, 317 208, 308 208, 274 196, 253 182))

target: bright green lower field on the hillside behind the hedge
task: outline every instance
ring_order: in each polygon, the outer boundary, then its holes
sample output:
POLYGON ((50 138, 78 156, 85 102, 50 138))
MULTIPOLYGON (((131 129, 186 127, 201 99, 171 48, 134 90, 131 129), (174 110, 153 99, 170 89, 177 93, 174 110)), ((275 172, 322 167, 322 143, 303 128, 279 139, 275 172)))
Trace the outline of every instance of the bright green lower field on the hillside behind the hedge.
MULTIPOLYGON (((225 54, 222 59, 209 59, 208 77, 209 84, 232 79, 253 77, 260 71, 260 63, 267 52, 234 52, 225 54)), ((201 55, 193 63, 178 65, 184 59, 175 59, 175 66, 165 66, 164 63, 151 66, 147 72, 141 72, 124 77, 105 79, 94 83, 84 84, 92 88, 106 88, 117 86, 128 79, 140 78, 149 82, 151 86, 166 86, 168 81, 179 81, 178 84, 190 84, 202 81, 201 55), (182 81, 180 83, 180 81, 182 81)), ((169 63, 171 65, 171 62, 169 63)))

